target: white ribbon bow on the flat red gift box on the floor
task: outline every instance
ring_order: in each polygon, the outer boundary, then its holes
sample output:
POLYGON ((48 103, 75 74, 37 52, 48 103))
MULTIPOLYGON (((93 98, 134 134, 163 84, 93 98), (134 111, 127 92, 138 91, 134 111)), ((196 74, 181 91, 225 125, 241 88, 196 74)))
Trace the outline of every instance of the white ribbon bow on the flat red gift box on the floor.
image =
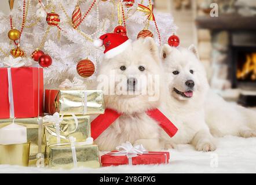
POLYGON ((111 156, 126 156, 128 158, 128 164, 132 165, 133 157, 137 157, 138 155, 146 154, 148 151, 143 147, 143 145, 136 145, 133 147, 130 142, 122 143, 122 145, 117 146, 116 150, 109 153, 111 156))

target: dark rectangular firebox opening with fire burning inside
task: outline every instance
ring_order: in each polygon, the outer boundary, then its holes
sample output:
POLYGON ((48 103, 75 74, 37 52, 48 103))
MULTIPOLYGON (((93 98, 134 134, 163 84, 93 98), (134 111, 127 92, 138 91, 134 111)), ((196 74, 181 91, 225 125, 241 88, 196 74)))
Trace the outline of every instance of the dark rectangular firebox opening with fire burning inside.
POLYGON ((232 87, 256 88, 256 47, 232 47, 232 87))

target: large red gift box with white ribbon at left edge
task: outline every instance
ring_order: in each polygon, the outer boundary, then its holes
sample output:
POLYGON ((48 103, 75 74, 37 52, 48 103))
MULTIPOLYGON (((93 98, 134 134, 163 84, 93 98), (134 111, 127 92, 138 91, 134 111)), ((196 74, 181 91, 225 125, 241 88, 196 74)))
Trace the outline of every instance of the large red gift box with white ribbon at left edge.
POLYGON ((43 68, 0 68, 0 119, 42 115, 43 68))

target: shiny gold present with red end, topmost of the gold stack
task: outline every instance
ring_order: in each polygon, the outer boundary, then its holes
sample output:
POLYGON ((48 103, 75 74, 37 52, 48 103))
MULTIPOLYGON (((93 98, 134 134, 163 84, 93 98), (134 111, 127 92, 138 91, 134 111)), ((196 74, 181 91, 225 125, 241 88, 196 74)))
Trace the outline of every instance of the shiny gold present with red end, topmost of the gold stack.
POLYGON ((59 90, 45 90, 46 113, 53 114, 58 112, 61 115, 104 113, 103 91, 85 90, 79 83, 75 83, 72 86, 69 80, 65 82, 70 86, 62 85, 59 90))

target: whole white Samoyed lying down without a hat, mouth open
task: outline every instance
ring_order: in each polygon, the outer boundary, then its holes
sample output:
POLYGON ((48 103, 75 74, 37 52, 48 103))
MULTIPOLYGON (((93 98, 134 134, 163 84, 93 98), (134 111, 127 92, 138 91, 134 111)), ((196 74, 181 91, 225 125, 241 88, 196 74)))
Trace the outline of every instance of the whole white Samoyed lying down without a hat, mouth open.
POLYGON ((210 90, 193 45, 189 49, 164 45, 160 55, 169 88, 167 109, 179 129, 173 138, 163 132, 170 145, 191 143, 196 150, 212 151, 216 149, 213 136, 256 136, 255 112, 210 90))

